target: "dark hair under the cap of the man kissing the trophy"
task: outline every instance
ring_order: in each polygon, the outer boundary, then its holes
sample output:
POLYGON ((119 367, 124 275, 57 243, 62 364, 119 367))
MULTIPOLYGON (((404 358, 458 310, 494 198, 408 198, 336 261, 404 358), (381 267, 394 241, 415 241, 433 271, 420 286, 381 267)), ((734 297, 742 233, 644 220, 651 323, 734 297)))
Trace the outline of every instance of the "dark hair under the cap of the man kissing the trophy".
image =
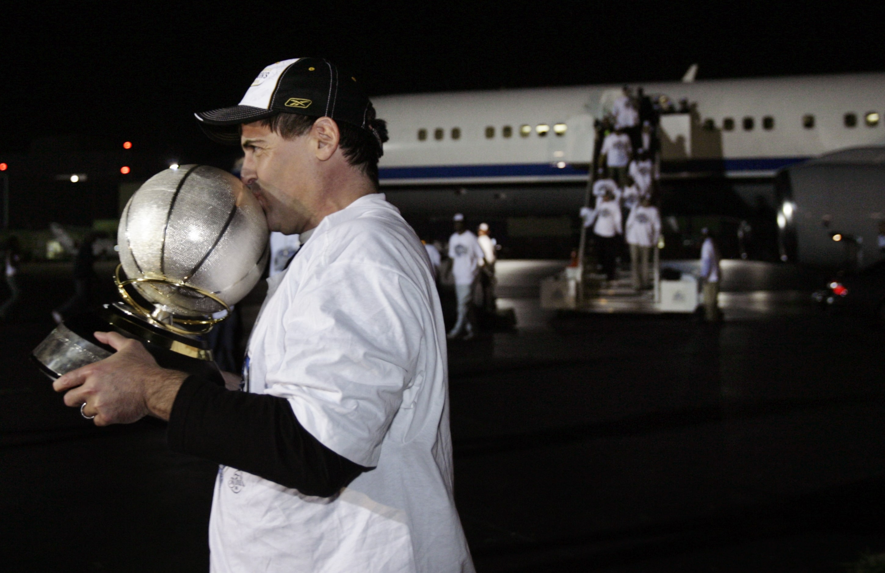
MULTIPOLYGON (((371 107, 370 111, 374 112, 371 107)), ((278 113, 270 118, 262 119, 260 123, 279 134, 283 139, 292 140, 310 131, 313 122, 317 119, 300 113, 278 113)), ((369 126, 372 127, 374 134, 361 127, 351 126, 344 121, 335 123, 341 133, 341 141, 338 145, 341 146, 347 163, 366 173, 377 187, 378 160, 383 153, 381 143, 388 141, 387 122, 383 119, 371 118, 369 126)))

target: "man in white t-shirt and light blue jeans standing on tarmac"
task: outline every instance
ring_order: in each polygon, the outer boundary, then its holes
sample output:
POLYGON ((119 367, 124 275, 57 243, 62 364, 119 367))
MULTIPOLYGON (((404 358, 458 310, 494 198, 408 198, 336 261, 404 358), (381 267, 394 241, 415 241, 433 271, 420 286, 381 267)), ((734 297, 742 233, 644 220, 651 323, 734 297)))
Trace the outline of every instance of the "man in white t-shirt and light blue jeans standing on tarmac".
POLYGON ((451 340, 463 333, 464 340, 471 340, 476 335, 473 328, 473 284, 485 255, 476 235, 467 231, 464 215, 456 213, 452 221, 455 233, 449 238, 449 257, 452 261, 451 274, 455 279, 455 296, 458 298, 458 319, 447 336, 451 340))

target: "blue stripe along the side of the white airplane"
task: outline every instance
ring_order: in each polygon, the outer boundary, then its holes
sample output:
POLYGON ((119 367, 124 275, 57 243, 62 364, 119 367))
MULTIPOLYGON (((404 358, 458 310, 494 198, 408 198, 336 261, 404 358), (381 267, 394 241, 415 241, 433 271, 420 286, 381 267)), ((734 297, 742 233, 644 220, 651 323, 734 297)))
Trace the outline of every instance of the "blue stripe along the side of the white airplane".
MULTIPOLYGON (((808 157, 750 157, 746 159, 707 159, 664 164, 663 171, 740 172, 777 171, 781 167, 805 161, 808 157), (667 168, 670 169, 667 169, 667 168)), ((552 175, 584 175, 587 172, 572 165, 559 168, 554 164, 485 164, 427 165, 421 167, 381 167, 379 178, 398 179, 461 179, 470 177, 538 177, 552 175)))

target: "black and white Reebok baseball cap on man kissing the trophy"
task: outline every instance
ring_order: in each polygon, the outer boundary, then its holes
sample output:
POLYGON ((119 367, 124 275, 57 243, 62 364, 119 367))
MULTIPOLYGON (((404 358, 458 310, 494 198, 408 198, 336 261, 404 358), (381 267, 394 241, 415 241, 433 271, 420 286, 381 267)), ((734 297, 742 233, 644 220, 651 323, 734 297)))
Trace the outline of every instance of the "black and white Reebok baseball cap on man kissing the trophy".
POLYGON ((277 113, 328 117, 362 127, 381 144, 372 126, 375 110, 353 76, 321 57, 296 57, 268 65, 239 105, 194 115, 213 141, 239 145, 239 126, 277 113))

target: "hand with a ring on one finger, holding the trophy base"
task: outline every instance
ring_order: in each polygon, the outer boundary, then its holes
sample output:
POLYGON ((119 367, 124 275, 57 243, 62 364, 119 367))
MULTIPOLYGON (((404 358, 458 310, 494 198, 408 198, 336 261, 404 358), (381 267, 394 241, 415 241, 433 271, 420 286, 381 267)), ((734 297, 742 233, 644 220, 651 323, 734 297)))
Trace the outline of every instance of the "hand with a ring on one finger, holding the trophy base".
POLYGON ((52 383, 65 404, 95 416, 96 425, 132 424, 144 416, 168 420, 175 396, 188 375, 160 368, 141 342, 117 332, 96 332, 117 350, 104 360, 68 372, 52 383))

